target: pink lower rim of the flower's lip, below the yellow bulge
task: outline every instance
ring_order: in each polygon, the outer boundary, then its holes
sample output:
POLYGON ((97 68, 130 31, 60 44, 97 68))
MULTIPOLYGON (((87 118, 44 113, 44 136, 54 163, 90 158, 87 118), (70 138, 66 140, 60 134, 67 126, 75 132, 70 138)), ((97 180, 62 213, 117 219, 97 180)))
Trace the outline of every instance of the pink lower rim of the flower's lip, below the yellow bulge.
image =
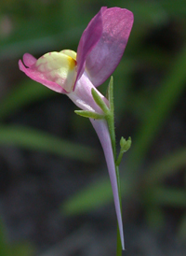
MULTIPOLYGON (((32 55, 30 55, 30 56, 32 56, 32 55)), ((47 88, 49 88, 49 89, 51 89, 51 90, 53 90, 55 92, 66 93, 66 91, 64 89, 62 89, 62 87, 59 84, 57 84, 57 83, 55 83, 53 81, 47 80, 46 78, 44 78, 42 73, 34 70, 34 68, 32 68, 32 67, 31 68, 26 68, 22 64, 21 61, 19 61, 19 67, 20 67, 20 70, 22 72, 24 72, 29 78, 32 78, 36 82, 39 82, 39 83, 45 85, 47 88)))

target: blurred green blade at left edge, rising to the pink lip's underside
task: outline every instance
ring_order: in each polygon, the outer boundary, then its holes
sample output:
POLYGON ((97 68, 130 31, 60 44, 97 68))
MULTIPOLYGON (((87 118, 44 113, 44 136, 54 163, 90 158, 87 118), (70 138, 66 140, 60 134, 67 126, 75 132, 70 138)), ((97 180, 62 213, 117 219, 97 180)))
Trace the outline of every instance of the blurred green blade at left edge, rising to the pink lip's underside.
POLYGON ((11 90, 4 99, 1 100, 0 120, 6 118, 9 114, 19 110, 25 105, 34 103, 37 100, 55 95, 55 92, 48 90, 45 86, 27 79, 11 90))

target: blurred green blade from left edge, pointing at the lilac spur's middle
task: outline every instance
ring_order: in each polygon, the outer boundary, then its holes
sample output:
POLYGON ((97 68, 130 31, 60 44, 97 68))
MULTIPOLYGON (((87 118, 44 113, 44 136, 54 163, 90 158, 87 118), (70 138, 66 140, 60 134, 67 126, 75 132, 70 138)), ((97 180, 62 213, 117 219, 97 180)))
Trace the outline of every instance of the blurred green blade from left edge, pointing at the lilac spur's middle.
POLYGON ((43 131, 16 125, 0 126, 0 145, 42 150, 82 162, 95 162, 98 152, 43 131))

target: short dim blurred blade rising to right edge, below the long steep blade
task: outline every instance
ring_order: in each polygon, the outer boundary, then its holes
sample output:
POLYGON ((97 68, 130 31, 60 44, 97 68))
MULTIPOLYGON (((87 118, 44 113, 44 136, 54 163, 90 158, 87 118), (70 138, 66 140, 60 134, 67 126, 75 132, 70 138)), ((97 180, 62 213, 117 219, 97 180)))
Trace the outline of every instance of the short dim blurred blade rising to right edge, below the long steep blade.
POLYGON ((179 168, 186 166, 186 148, 178 149, 155 164, 146 171, 145 183, 152 184, 161 181, 163 178, 178 172, 179 168))

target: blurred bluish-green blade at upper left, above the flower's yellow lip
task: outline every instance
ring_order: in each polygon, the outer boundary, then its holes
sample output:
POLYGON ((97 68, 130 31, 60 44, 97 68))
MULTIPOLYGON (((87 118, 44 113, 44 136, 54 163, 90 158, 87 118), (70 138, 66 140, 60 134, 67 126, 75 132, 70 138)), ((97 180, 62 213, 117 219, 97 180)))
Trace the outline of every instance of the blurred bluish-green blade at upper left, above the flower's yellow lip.
MULTIPOLYGON (((61 19, 61 18, 60 18, 61 19)), ((54 19, 56 20, 56 19, 54 19)), ((79 19, 81 21, 81 19, 79 19)), ((40 53, 40 52, 47 52, 48 49, 59 49, 61 42, 62 45, 72 44, 72 42, 78 43, 78 40, 81 36, 81 33, 84 29, 82 25, 77 25, 71 27, 68 30, 64 30, 63 27, 60 28, 59 25, 56 25, 53 31, 56 31, 58 28, 58 32, 56 34, 49 33, 48 31, 44 35, 42 35, 42 31, 44 31, 43 26, 47 30, 48 22, 43 21, 43 24, 40 26, 39 21, 35 21, 33 24, 33 20, 31 22, 25 22, 21 29, 16 31, 16 35, 12 38, 11 36, 7 38, 7 40, 0 41, 0 58, 19 58, 25 52, 40 53), (44 22, 46 24, 44 24, 44 22), (24 32, 22 32, 22 30, 24 32), (30 33, 28 33, 28 31, 30 33), (35 33, 36 32, 36 33, 35 33), (32 36, 33 33, 33 36, 32 36), (19 39, 18 39, 19 38, 19 39)), ((47 21, 51 22, 51 20, 47 21)), ((42 21, 41 21, 42 22, 42 21)), ((57 21, 55 21, 55 24, 57 21)), ((62 22, 58 22, 58 24, 62 24, 62 22)), ((74 23, 73 23, 74 24, 74 23)), ((53 24, 52 24, 53 25, 53 24)), ((61 49, 62 50, 62 49, 61 49)))

